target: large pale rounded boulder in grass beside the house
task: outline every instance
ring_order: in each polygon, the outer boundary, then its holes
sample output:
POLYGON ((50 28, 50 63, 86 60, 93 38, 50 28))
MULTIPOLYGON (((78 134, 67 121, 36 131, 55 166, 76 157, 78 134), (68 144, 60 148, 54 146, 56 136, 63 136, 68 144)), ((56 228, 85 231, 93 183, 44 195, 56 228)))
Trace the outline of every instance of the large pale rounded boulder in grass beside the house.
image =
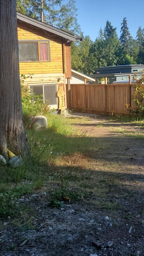
POLYGON ((36 130, 47 128, 47 118, 45 116, 34 116, 31 121, 30 126, 34 126, 36 130))

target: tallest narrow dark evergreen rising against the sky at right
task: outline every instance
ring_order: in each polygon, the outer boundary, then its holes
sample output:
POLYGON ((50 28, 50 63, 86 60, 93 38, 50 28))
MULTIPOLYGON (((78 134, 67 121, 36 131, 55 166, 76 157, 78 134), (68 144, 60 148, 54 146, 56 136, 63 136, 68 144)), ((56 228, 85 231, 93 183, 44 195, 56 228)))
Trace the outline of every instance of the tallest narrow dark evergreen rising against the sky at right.
POLYGON ((126 17, 123 19, 123 22, 121 23, 121 36, 119 38, 121 45, 122 45, 122 49, 124 51, 125 54, 129 54, 129 47, 128 47, 128 41, 130 38, 130 32, 128 31, 128 24, 127 24, 127 20, 126 17))

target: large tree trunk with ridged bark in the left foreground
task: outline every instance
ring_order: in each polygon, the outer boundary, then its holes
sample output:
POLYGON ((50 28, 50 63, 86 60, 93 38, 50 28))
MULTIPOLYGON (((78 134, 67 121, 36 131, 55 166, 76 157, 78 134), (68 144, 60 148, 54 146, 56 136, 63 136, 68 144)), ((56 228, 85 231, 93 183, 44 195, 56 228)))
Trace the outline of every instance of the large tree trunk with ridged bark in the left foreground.
POLYGON ((0 0, 0 154, 29 152, 22 117, 16 0, 0 0))

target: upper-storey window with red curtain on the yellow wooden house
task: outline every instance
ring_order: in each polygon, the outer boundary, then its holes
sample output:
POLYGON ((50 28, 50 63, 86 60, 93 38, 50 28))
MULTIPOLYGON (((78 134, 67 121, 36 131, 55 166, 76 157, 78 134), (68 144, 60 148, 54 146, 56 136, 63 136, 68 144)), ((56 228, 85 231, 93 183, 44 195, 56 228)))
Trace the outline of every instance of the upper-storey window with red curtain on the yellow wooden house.
POLYGON ((19 62, 49 62, 50 49, 47 41, 19 41, 19 62))

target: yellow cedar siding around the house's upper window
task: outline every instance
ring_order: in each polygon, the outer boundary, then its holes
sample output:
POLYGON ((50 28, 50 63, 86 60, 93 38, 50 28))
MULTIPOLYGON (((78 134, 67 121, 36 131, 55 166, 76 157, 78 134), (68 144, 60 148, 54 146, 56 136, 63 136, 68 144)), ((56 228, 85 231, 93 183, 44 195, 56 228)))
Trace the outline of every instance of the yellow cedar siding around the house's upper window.
POLYGON ((18 40, 49 40, 51 60, 50 62, 20 62, 20 74, 63 73, 62 39, 58 37, 52 39, 46 34, 42 30, 18 21, 18 40))

